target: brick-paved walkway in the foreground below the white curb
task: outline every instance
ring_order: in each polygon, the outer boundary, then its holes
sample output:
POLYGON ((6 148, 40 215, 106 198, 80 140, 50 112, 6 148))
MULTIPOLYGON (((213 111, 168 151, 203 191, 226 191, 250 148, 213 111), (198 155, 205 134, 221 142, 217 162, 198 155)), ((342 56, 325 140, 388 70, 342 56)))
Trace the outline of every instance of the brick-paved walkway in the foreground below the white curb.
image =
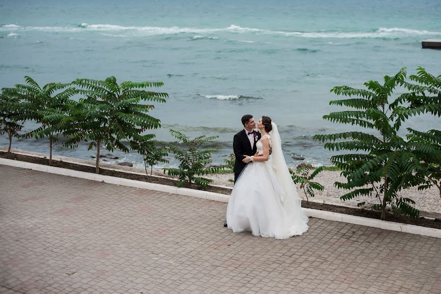
POLYGON ((225 211, 0 166, 0 293, 441 293, 441 239, 311 219, 280 241, 225 211))

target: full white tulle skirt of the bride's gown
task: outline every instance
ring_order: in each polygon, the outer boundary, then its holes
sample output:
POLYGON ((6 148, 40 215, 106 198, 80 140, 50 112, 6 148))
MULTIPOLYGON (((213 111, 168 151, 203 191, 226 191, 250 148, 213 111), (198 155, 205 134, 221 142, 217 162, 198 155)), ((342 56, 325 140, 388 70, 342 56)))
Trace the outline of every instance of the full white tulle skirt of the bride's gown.
POLYGON ((283 204, 280 189, 268 161, 249 163, 234 184, 228 202, 228 228, 276 239, 302 235, 309 228, 308 216, 298 196, 288 197, 283 204))

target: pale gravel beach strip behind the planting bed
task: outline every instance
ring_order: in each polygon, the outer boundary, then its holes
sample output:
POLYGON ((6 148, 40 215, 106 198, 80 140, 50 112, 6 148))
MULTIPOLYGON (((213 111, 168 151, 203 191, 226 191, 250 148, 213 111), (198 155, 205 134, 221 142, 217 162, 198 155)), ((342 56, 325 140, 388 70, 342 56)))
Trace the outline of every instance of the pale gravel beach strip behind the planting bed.
MULTIPOLYGON (((6 148, 0 147, 0 150, 6 151, 6 148)), ((30 152, 19 149, 12 149, 11 151, 15 153, 21 153, 21 154, 33 155, 39 157, 48 156, 47 154, 30 152)), ((65 156, 56 156, 56 155, 53 156, 53 159, 95 166, 95 161, 91 161, 91 160, 83 160, 83 159, 77 159, 77 158, 71 158, 65 156)), ((127 172, 145 173, 144 169, 118 166, 104 161, 101 162, 100 166, 103 168, 115 169, 115 170, 118 169, 127 172)), ((159 170, 156 171, 154 170, 153 173, 156 176, 167 176, 164 174, 164 172, 159 170)), ((214 181, 213 182, 214 185, 231 187, 231 188, 233 187, 233 183, 230 183, 228 181, 229 179, 234 178, 233 173, 210 174, 206 177, 212 179, 214 181)), ((349 206, 349 207, 357 207, 358 203, 365 201, 366 204, 363 207, 366 208, 370 207, 372 204, 379 203, 378 199, 371 197, 357 197, 356 199, 349 201, 340 200, 339 197, 346 193, 346 191, 339 190, 336 187, 334 187, 334 183, 336 181, 341 181, 341 182, 345 181, 345 178, 340 176, 340 172, 323 171, 315 177, 314 181, 322 184, 325 187, 325 190, 321 192, 317 192, 313 198, 309 197, 310 201, 327 203, 327 204, 337 204, 337 205, 349 206)), ((299 192, 299 196, 302 199, 306 200, 306 196, 305 193, 303 192, 303 189, 298 189, 297 191, 299 192)), ((419 209, 421 212, 424 212, 421 213, 421 215, 431 216, 436 218, 441 217, 441 197, 438 189, 432 188, 430 190, 418 191, 416 188, 411 188, 402 191, 399 194, 399 196, 409 197, 413 199, 416 202, 415 207, 419 209)))

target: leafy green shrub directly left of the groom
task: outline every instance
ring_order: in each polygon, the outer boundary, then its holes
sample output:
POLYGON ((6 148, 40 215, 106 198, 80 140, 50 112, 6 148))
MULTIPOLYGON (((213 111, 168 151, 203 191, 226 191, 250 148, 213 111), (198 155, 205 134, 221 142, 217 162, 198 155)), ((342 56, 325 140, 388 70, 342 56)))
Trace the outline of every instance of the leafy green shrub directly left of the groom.
POLYGON ((199 177, 200 175, 216 173, 227 168, 225 165, 206 168, 207 165, 212 163, 211 152, 219 150, 218 147, 198 150, 204 143, 215 140, 219 138, 219 136, 207 137, 204 135, 190 140, 186 135, 172 129, 170 129, 170 134, 178 139, 179 143, 184 147, 173 143, 167 144, 168 149, 174 153, 175 159, 178 160, 180 164, 177 169, 167 168, 163 169, 163 171, 169 175, 178 176, 179 186, 182 187, 186 183, 190 186, 192 183, 199 186, 207 186, 212 183, 213 180, 199 177))

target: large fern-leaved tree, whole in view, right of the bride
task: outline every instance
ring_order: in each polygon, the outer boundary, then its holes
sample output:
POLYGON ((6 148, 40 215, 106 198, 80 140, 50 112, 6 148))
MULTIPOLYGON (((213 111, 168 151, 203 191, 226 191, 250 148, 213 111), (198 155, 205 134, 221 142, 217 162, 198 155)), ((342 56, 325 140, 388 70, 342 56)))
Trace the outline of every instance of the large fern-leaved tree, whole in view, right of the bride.
POLYGON ((357 196, 375 196, 379 203, 373 209, 381 210, 381 219, 386 218, 386 206, 395 212, 417 217, 419 211, 412 207, 410 198, 399 197, 398 191, 415 185, 415 173, 419 161, 407 148, 407 142, 397 135, 401 120, 395 120, 397 103, 389 103, 393 90, 402 85, 406 70, 402 68, 394 76, 386 75, 384 84, 377 81, 364 83, 367 89, 339 86, 331 90, 337 95, 355 96, 330 101, 331 105, 352 108, 325 115, 323 119, 344 124, 358 125, 370 132, 347 131, 331 135, 315 135, 314 139, 327 142, 330 150, 346 150, 349 153, 331 157, 331 162, 343 169, 347 182, 336 182, 340 189, 351 190, 340 197, 342 200, 357 196), (360 152, 362 151, 362 152, 360 152), (413 183, 411 183, 414 181, 413 183))

